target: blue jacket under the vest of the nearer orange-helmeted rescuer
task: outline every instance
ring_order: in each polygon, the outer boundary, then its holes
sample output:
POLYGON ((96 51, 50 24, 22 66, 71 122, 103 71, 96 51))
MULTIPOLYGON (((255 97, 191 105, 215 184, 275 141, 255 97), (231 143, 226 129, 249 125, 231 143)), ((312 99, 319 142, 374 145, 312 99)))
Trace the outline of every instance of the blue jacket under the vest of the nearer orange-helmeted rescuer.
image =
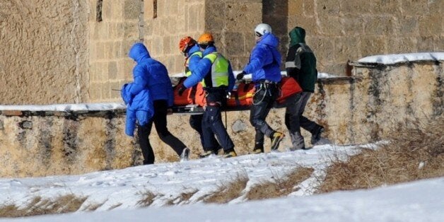
MULTIPOLYGON (((207 54, 210 54, 212 52, 217 52, 215 46, 207 47, 204 51, 203 56, 205 57, 207 54)), ((183 83, 184 86, 190 88, 199 83, 200 81, 202 81, 202 79, 204 79, 207 74, 210 74, 211 66, 213 66, 213 64, 211 63, 210 59, 206 58, 200 59, 196 67, 190 68, 192 74, 187 79, 185 79, 183 83)), ((235 83, 235 78, 233 74, 233 69, 231 68, 231 64, 228 64, 228 89, 227 89, 228 91, 233 90, 234 83, 235 83)))

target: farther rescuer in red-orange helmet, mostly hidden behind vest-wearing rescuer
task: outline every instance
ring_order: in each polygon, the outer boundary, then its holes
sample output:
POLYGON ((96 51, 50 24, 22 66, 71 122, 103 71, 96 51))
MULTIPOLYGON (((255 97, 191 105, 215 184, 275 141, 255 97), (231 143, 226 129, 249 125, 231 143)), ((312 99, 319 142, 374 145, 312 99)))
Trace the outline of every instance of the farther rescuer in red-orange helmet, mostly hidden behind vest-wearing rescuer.
MULTIPOLYGON (((194 70, 197 64, 199 64, 199 61, 202 59, 203 53, 200 51, 196 40, 189 36, 182 37, 182 39, 179 41, 179 49, 180 52, 182 52, 182 54, 185 56, 185 76, 191 76, 192 70, 194 70)), ((193 86, 193 90, 196 90, 196 88, 197 86, 193 86)), ((197 133, 199 133, 202 147, 204 147, 204 134, 202 132, 203 116, 203 114, 189 115, 189 125, 192 127, 192 129, 196 130, 197 133)), ((214 136, 211 139, 213 140, 211 144, 218 144, 218 141, 214 136)), ((211 151, 204 150, 204 153, 218 153, 218 150, 220 148, 222 147, 218 145, 217 149, 211 151)), ((201 157, 206 156, 204 155, 201 157)))

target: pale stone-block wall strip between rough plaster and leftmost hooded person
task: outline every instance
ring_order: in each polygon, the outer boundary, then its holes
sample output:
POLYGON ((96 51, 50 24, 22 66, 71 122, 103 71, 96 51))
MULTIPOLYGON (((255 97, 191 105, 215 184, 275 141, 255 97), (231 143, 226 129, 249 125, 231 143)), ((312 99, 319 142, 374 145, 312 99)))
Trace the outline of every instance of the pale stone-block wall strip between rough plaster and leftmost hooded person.
POLYGON ((144 1, 89 0, 89 74, 90 100, 120 100, 118 90, 132 81, 134 63, 128 52, 135 42, 143 41, 141 16, 144 1))

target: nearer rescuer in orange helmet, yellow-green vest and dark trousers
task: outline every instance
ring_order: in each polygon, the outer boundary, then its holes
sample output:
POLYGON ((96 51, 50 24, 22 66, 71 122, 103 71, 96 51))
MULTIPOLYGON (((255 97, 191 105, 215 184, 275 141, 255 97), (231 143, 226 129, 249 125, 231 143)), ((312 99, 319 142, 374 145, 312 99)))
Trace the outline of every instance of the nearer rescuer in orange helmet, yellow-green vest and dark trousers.
POLYGON ((199 64, 192 67, 192 74, 189 76, 179 93, 183 93, 186 88, 190 88, 199 81, 206 93, 206 110, 202 119, 202 133, 204 136, 204 153, 201 157, 210 156, 218 150, 218 144, 212 138, 216 135, 221 144, 224 157, 229 158, 237 156, 234 150, 233 141, 223 126, 221 117, 221 108, 226 105, 226 95, 233 90, 235 78, 228 59, 217 52, 214 46, 213 36, 204 33, 197 40, 200 50, 203 52, 203 58, 199 64))

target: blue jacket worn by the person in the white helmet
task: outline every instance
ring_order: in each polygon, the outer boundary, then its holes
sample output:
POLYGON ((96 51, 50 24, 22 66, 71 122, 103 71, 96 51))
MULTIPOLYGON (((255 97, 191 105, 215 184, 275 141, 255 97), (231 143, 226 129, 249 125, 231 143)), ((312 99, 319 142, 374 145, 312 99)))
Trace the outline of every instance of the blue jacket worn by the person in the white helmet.
POLYGON ((272 33, 267 33, 257 42, 250 54, 250 62, 243 71, 252 74, 252 81, 281 81, 281 54, 276 49, 279 40, 272 33))

